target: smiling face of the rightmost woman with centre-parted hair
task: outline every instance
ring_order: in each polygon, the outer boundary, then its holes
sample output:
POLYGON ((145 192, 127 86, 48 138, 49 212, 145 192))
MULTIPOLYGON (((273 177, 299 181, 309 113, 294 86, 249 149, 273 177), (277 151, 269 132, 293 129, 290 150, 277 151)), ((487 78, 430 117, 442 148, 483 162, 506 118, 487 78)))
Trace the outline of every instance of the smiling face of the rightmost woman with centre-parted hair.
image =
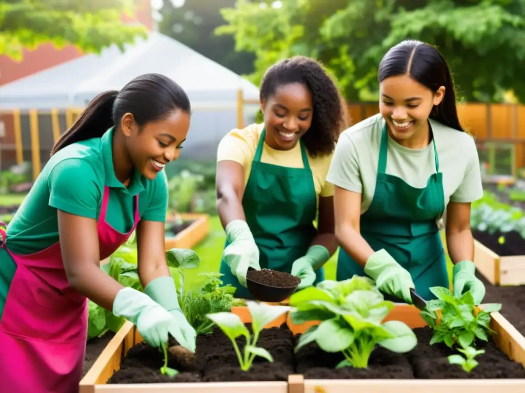
POLYGON ((444 95, 444 86, 434 93, 409 75, 383 80, 380 83, 379 110, 392 137, 408 141, 422 134, 428 127, 430 111, 443 100, 444 95))

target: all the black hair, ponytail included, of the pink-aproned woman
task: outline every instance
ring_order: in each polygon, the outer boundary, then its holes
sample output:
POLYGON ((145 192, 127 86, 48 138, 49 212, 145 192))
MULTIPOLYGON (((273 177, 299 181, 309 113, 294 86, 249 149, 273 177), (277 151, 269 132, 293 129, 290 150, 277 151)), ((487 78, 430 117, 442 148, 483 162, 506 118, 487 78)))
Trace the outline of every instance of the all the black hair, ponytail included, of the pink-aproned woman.
POLYGON ((108 128, 120 124, 126 113, 133 114, 142 127, 168 117, 177 109, 191 112, 190 99, 181 86, 161 74, 140 75, 120 92, 106 91, 91 100, 75 124, 53 146, 51 156, 73 143, 100 138, 108 128))

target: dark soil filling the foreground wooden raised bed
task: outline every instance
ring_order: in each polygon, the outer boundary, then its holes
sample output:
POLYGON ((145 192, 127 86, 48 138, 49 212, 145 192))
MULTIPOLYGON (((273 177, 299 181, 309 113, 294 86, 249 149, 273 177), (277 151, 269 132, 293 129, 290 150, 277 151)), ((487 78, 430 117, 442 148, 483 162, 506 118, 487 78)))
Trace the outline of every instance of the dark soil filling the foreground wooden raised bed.
MULTIPOLYGON (((250 328, 249 324, 247 326, 250 328)), ((370 357, 368 368, 335 369, 335 365, 343 359, 340 353, 325 353, 315 343, 310 343, 294 355, 293 347, 299 335, 293 337, 286 325, 265 329, 259 336, 257 346, 270 352, 274 363, 256 357, 251 369, 243 372, 239 368, 232 343, 222 331, 215 330, 210 335, 197 336, 194 357, 170 353, 168 366, 180 371, 175 377, 162 375, 162 353, 141 343, 128 352, 120 370, 111 377, 108 384, 286 381, 290 374, 303 374, 310 379, 525 378, 523 366, 512 362, 492 341, 485 345, 478 344, 486 353, 476 358, 479 365, 472 372, 465 373, 460 366, 448 363, 447 356, 453 354, 453 351, 444 344, 429 344, 432 337, 429 328, 414 331, 418 344, 407 354, 396 354, 377 347, 370 357)), ((244 341, 237 339, 241 352, 244 341)), ((173 350, 172 347, 170 352, 175 352, 173 350)))

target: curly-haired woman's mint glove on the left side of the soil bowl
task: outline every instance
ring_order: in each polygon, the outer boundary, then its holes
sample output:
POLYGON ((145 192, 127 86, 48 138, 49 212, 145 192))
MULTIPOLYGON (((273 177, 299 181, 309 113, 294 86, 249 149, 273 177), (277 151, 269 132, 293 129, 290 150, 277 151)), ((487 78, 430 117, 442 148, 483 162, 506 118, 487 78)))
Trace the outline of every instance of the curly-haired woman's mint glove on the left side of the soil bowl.
POLYGON ((248 267, 260 270, 259 248, 246 221, 234 220, 226 225, 226 238, 230 243, 224 249, 223 257, 226 265, 237 277, 240 285, 246 288, 248 267))

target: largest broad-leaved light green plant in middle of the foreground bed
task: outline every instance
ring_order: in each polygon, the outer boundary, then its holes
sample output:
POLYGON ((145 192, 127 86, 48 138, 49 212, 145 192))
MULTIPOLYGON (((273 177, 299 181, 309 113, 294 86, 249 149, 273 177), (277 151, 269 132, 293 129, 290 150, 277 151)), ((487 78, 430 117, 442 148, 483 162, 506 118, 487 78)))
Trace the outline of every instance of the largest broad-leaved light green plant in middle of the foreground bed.
POLYGON ((321 321, 301 335, 296 352, 315 341, 325 352, 343 353, 345 359, 337 368, 367 367, 376 345, 404 353, 417 344, 414 332, 405 323, 383 322, 394 304, 385 301, 374 281, 367 277, 325 280, 292 294, 290 305, 293 323, 321 321))

